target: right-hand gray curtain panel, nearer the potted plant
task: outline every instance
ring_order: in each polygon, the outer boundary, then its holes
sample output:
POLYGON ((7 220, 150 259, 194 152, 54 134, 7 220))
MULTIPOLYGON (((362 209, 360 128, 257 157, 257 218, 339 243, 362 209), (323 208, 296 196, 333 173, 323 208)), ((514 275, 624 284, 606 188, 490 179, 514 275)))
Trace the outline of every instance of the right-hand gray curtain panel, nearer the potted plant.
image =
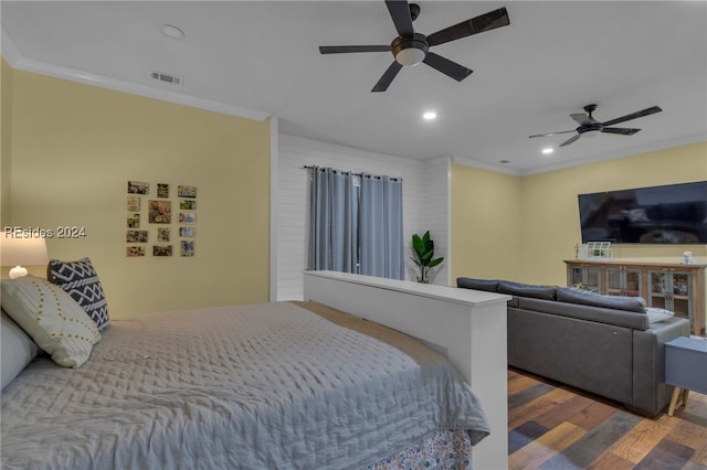
POLYGON ((360 274, 404 279, 402 179, 361 175, 360 274))

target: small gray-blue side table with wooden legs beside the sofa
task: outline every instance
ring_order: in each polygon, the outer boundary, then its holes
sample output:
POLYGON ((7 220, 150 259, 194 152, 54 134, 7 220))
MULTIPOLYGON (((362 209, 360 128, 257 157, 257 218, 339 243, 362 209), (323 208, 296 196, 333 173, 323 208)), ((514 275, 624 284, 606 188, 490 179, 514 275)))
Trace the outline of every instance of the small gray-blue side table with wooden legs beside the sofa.
POLYGON ((675 386, 668 416, 680 396, 687 404, 689 391, 707 394, 707 340, 680 337, 665 343, 665 383, 675 386))

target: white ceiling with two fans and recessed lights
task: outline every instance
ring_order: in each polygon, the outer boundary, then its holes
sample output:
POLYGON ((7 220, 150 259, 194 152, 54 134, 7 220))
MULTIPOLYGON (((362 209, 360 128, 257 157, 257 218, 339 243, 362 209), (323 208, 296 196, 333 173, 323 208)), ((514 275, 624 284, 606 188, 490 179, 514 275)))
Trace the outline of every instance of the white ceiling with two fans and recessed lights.
POLYGON ((370 89, 390 53, 317 49, 389 44, 397 33, 383 1, 3 0, 2 53, 18 68, 272 114, 287 135, 517 174, 707 140, 705 1, 419 3, 424 34, 500 7, 510 25, 432 49, 472 68, 465 81, 421 64, 386 93, 370 89), (166 23, 186 36, 161 34, 166 23), (159 84, 150 71, 183 84, 159 84), (540 149, 571 135, 528 138, 576 128, 569 115, 592 103, 600 121, 663 113, 620 125, 642 128, 632 137, 590 132, 549 157, 540 149), (423 121, 428 109, 436 121, 423 121))

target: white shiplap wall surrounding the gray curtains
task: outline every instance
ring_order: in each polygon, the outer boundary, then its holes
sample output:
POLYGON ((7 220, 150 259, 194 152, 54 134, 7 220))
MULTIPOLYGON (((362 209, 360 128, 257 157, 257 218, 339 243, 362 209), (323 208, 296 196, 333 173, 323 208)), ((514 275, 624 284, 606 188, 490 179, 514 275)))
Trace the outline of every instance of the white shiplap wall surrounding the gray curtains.
MULTIPOLYGON (((430 229, 435 253, 447 256, 447 171, 449 159, 431 162, 373 153, 292 136, 279 136, 277 181, 273 188, 276 207, 277 258, 273 300, 303 298, 303 275, 306 266, 307 172, 305 165, 331 167, 344 171, 387 174, 403 179, 403 231, 405 256, 411 256, 413 233, 430 229), (442 207, 443 206, 443 207, 442 207), (430 215, 428 215, 430 214, 430 215)), ((446 263, 445 263, 446 264, 446 263)), ((445 264, 432 279, 447 284, 445 264)), ((407 279, 415 277, 415 266, 405 264, 407 279)))

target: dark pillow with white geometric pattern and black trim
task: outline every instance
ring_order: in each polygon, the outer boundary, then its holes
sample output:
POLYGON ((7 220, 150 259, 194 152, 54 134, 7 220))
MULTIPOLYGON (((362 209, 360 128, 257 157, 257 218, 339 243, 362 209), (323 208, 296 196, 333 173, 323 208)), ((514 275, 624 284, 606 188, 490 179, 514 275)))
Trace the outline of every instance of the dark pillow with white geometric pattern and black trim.
POLYGON ((110 322, 108 305, 91 259, 83 258, 77 261, 52 259, 46 266, 46 278, 68 292, 96 322, 98 330, 108 325, 110 322))

